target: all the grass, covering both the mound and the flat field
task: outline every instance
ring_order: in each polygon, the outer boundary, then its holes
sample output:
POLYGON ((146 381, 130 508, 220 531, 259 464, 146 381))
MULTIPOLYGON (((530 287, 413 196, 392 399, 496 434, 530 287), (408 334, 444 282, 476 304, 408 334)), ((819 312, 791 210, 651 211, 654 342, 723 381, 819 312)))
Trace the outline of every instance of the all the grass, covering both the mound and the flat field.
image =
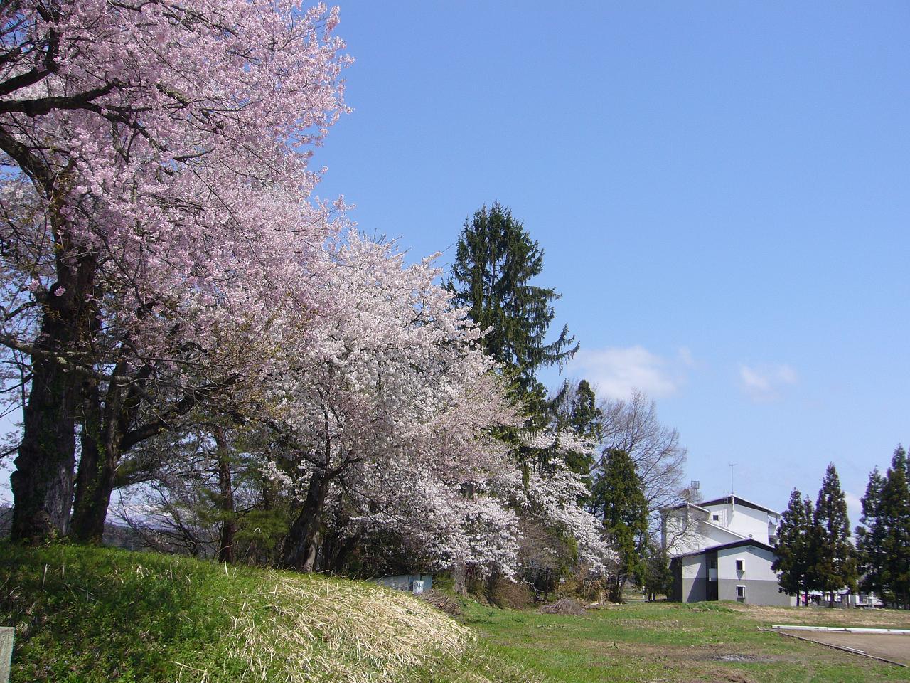
POLYGON ((908 627, 910 613, 633 603, 560 617, 462 602, 459 624, 364 582, 0 542, 13 683, 910 681, 910 668, 759 629, 908 627))

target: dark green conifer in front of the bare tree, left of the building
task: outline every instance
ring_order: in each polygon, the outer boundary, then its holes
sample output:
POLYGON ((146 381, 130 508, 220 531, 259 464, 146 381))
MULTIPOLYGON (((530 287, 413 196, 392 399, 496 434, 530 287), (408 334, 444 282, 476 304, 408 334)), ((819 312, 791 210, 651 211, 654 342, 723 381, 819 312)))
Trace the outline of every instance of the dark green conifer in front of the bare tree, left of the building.
POLYGON ((642 554, 648 542, 648 502, 642 479, 628 453, 610 451, 604 461, 603 472, 594 484, 592 506, 601 516, 603 527, 620 556, 611 599, 621 602, 622 586, 627 579, 642 582, 642 554))

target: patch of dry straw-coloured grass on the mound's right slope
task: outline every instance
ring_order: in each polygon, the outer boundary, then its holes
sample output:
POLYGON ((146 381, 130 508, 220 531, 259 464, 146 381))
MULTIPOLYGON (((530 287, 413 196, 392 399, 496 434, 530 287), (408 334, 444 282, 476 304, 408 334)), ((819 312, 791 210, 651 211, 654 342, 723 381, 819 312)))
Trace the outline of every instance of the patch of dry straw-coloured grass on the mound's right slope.
POLYGON ((406 594, 356 582, 275 575, 257 605, 234 617, 242 680, 373 683, 407 678, 473 639, 467 627, 406 594))

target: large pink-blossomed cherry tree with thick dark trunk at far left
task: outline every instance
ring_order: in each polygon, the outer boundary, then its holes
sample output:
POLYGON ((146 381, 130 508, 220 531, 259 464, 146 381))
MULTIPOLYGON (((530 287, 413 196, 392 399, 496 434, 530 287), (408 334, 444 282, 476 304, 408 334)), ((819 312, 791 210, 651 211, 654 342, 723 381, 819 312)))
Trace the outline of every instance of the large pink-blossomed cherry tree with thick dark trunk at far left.
POLYGON ((174 404, 134 438, 198 401, 187 367, 236 369, 211 392, 268 351, 277 318, 309 315, 331 226, 307 201, 305 150, 345 110, 348 60, 337 10, 288 0, 25 0, 0 15, 0 342, 24 402, 11 481, 28 539, 66 532, 77 422, 122 451, 150 385, 167 375, 174 404), (83 420, 98 388, 110 419, 83 420))

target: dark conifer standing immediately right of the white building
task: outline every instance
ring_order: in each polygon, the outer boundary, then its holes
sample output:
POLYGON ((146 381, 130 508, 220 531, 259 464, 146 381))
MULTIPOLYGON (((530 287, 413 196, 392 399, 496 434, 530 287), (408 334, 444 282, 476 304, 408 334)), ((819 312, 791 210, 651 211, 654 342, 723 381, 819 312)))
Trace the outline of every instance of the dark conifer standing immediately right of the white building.
MULTIPOLYGON (((778 581, 781 591, 788 596, 807 596, 809 591, 812 543, 812 501, 797 489, 790 494, 790 503, 781 516, 781 525, 777 529, 777 545, 774 553, 777 556, 771 568, 780 572, 778 581)), ((805 602, 805 599, 804 599, 805 602)))

